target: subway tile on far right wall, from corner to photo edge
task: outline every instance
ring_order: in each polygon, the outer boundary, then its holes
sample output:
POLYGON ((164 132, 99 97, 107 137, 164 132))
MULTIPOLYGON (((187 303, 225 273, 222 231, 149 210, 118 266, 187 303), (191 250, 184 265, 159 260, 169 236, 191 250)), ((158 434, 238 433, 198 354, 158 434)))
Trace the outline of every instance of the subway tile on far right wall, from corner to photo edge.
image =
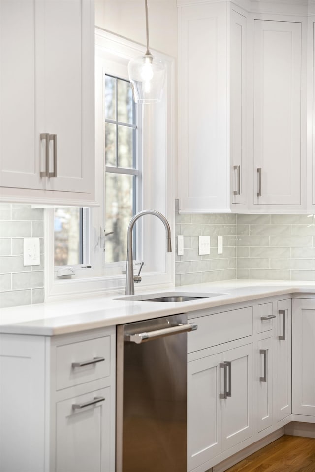
POLYGON ((237 215, 237 278, 314 280, 315 215, 237 215))

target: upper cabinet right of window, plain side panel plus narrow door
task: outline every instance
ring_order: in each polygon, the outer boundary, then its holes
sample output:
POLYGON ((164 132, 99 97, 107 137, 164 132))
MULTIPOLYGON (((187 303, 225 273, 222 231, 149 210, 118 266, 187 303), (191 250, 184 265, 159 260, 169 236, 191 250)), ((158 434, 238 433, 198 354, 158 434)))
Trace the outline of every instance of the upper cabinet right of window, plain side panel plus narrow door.
POLYGON ((230 211, 230 185, 237 203, 244 203, 244 80, 246 18, 230 12, 229 2, 179 8, 179 197, 180 211, 230 211), (234 37, 231 73, 230 178, 229 19, 234 37), (243 148, 242 148, 243 146, 243 148), (235 166, 235 169, 234 169, 235 166), (239 168, 237 166, 240 166, 239 168), (236 176, 236 177, 235 177, 236 176), (233 180, 233 182, 232 182, 233 180))

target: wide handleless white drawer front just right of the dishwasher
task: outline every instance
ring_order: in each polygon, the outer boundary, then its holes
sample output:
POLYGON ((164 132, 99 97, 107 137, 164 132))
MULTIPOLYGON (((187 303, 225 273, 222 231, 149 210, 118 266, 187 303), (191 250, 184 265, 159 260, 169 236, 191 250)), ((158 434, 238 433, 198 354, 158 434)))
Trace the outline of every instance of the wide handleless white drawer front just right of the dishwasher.
POLYGON ((188 352, 228 343, 252 335, 252 306, 189 320, 198 324, 188 335, 188 352))

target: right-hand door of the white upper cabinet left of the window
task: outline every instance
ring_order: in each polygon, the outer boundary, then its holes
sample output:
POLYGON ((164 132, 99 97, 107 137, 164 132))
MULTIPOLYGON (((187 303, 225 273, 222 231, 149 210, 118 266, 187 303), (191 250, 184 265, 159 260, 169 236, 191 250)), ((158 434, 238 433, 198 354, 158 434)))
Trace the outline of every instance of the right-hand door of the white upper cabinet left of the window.
POLYGON ((56 135, 49 172, 57 177, 47 179, 46 189, 89 192, 94 176, 92 2, 40 1, 36 13, 36 139, 40 133, 56 135))

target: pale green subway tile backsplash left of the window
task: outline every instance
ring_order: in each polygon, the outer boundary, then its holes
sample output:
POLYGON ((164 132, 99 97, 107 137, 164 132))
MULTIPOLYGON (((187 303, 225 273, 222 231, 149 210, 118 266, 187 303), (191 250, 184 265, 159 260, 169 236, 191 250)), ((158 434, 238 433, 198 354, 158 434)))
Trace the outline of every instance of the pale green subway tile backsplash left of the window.
POLYGON ((0 204, 0 307, 44 301, 44 210, 0 204), (23 266, 23 238, 40 238, 40 265, 23 266))

